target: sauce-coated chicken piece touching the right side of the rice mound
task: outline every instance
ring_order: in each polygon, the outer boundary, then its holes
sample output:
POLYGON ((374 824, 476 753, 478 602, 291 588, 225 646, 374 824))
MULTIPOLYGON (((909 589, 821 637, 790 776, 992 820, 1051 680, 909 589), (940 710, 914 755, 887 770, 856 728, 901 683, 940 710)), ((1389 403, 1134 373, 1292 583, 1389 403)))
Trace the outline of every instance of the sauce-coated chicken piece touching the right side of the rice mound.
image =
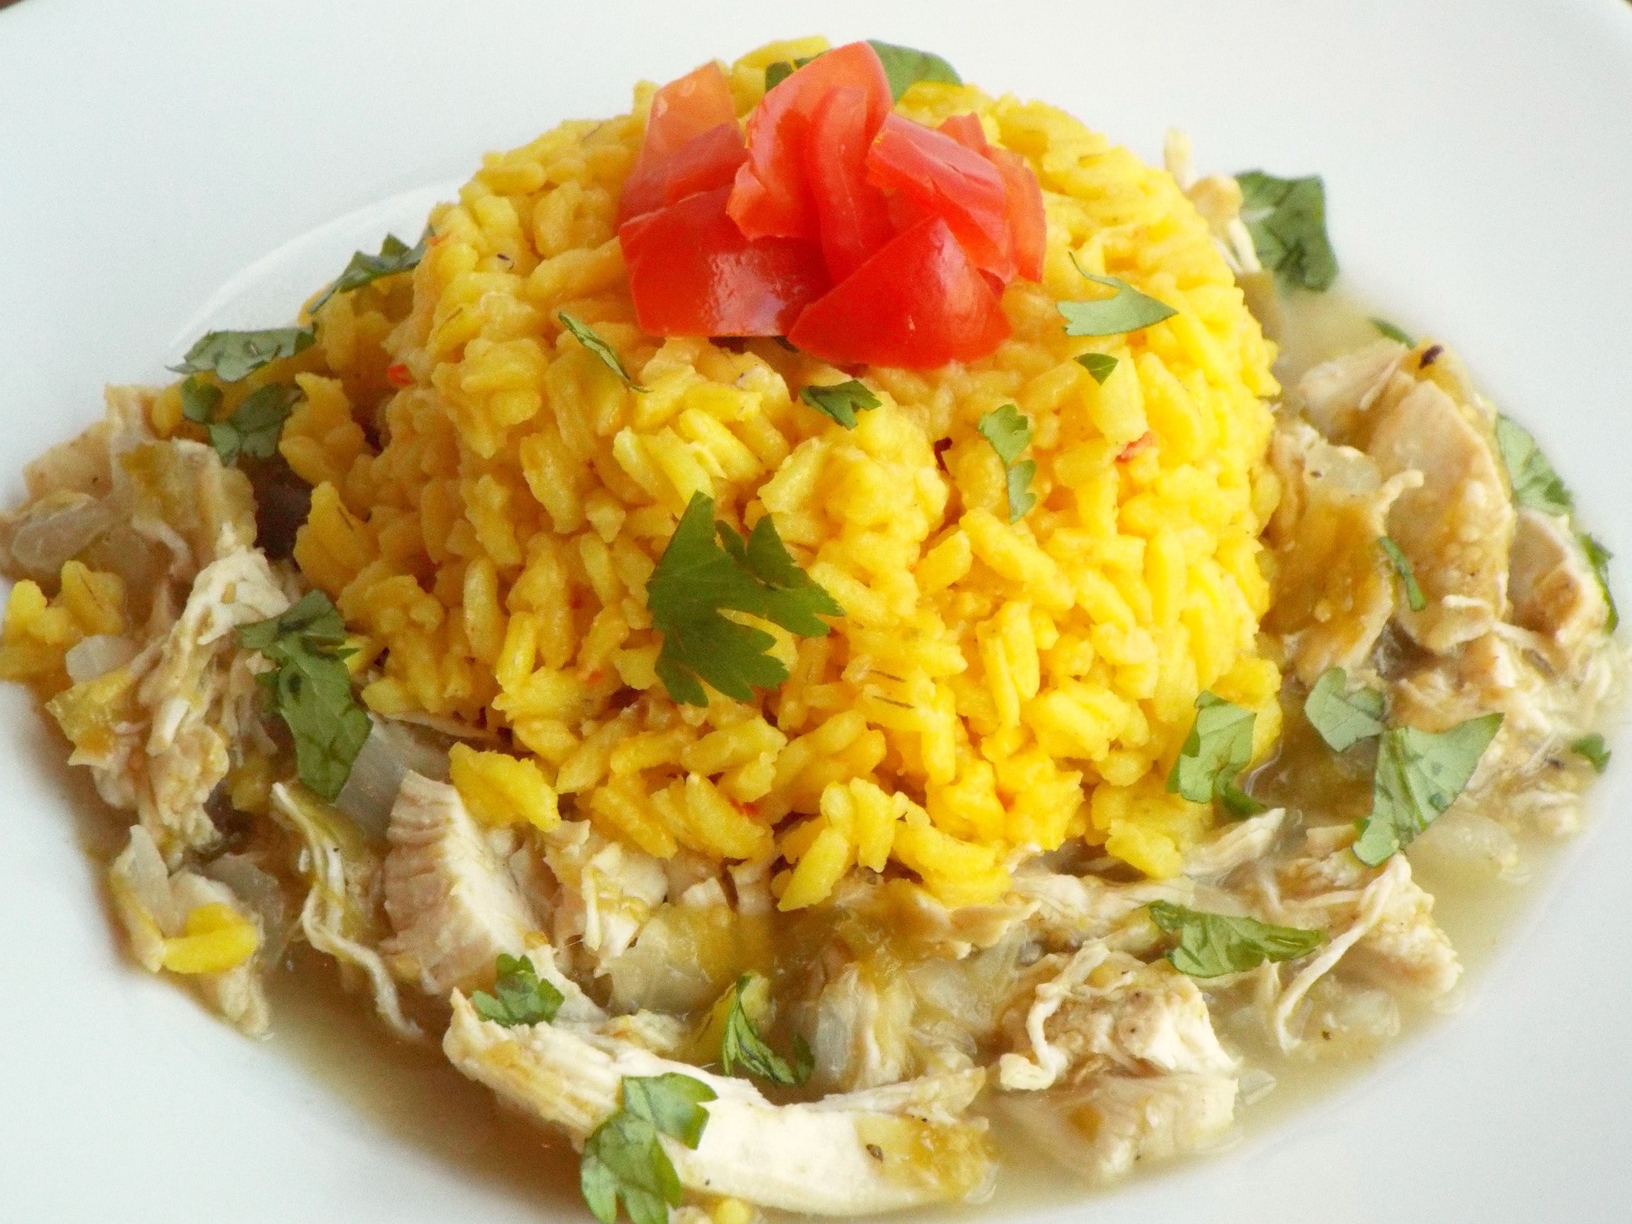
POLYGON ((1263 628, 1286 641, 1304 684, 1328 667, 1364 664, 1394 614, 1394 574, 1379 552, 1389 509, 1415 472, 1382 478, 1359 450, 1330 446, 1302 421, 1270 444, 1281 504, 1266 537, 1275 548, 1275 602, 1263 628))

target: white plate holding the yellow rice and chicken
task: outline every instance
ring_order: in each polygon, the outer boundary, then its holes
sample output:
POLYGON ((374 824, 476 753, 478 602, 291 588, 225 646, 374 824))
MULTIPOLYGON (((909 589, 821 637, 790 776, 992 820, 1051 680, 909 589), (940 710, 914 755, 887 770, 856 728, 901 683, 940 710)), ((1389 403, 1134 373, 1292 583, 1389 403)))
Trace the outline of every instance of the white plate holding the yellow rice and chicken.
MULTIPOLYGON (((1617 0, 28 0, 0 13, 0 493, 13 501, 21 463, 98 415, 103 382, 158 377, 207 302, 217 323, 279 322, 232 312, 290 312, 387 214, 277 263, 305 279, 217 297, 269 251, 558 119, 625 109, 638 77, 818 29, 935 49, 1146 157, 1177 124, 1203 168, 1324 173, 1350 282, 1457 344, 1583 521, 1632 557, 1632 8, 1617 0)), ((0 728, 0 1216, 588 1219, 570 1193, 540 1196, 511 1149, 483 1157, 491 1123, 470 1093, 446 1120, 393 1093, 382 1120, 127 968, 82 854, 86 787, 16 689, 0 728), (436 1139, 467 1121, 463 1152, 436 1139)), ((1232 1152, 1049 1213, 1625 1219, 1622 765, 1454 1018, 1232 1152)), ((336 1041, 346 1059, 370 1048, 354 1030, 336 1041)))

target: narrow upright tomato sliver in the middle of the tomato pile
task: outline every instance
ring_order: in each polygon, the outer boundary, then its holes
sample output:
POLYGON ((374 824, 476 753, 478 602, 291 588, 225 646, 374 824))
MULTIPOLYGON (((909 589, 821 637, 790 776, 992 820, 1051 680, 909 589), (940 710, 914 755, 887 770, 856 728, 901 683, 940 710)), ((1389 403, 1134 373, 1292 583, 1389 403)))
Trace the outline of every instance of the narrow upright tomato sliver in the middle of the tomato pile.
POLYGON ((885 193, 867 181, 870 122, 867 95, 850 85, 829 93, 811 114, 805 175, 836 284, 896 233, 885 193))

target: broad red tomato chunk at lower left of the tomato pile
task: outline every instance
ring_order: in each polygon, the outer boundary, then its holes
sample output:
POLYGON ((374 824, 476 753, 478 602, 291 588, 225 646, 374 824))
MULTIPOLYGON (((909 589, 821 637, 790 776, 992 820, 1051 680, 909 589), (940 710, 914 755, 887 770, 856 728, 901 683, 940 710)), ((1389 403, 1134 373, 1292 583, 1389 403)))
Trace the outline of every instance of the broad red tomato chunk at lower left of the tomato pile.
POLYGON ((635 318, 654 336, 780 336, 831 284, 821 246, 743 237, 716 188, 619 230, 635 318))

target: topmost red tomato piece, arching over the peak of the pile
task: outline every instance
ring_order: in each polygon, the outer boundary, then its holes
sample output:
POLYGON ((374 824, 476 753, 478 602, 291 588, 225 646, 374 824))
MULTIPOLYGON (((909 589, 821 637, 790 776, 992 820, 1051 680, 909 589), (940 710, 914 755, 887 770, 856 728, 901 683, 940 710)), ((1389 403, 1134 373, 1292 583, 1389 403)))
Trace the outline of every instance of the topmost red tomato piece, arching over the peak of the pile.
POLYGON ((805 150, 818 104, 845 86, 865 95, 871 139, 893 100, 885 65, 867 42, 818 55, 754 108, 747 121, 747 163, 736 171, 730 209, 749 238, 818 238, 805 150))

